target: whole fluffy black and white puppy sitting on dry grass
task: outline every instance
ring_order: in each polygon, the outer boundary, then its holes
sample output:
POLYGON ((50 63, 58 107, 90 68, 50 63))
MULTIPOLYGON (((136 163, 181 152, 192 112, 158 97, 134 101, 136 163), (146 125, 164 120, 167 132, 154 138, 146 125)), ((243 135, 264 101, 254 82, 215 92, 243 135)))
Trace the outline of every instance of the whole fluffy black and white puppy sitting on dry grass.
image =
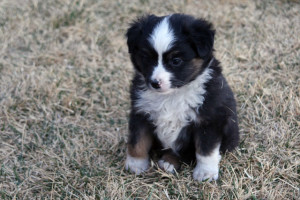
POLYGON ((159 142, 160 168, 174 172, 194 158, 194 179, 218 178, 220 151, 238 145, 239 130, 233 93, 213 56, 214 34, 207 21, 183 14, 148 15, 131 24, 127 170, 147 170, 159 142))

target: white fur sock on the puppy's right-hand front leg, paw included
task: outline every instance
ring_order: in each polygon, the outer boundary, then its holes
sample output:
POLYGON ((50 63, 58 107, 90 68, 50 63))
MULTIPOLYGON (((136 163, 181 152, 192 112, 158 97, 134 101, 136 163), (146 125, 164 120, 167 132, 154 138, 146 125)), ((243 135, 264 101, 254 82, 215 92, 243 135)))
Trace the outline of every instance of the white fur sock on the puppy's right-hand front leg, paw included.
POLYGON ((204 181, 208 179, 217 180, 219 175, 219 162, 221 155, 219 152, 220 145, 218 145, 209 156, 201 156, 196 153, 197 165, 193 172, 193 178, 197 181, 204 181))

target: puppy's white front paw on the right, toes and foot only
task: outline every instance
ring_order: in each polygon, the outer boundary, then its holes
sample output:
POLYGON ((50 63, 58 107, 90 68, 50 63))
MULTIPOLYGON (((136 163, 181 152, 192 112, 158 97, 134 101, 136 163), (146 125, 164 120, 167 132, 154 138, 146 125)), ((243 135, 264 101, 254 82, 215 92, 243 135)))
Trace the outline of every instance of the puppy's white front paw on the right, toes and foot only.
POLYGON ((197 164, 193 172, 193 178, 197 181, 212 181, 217 180, 219 176, 218 166, 197 164))

